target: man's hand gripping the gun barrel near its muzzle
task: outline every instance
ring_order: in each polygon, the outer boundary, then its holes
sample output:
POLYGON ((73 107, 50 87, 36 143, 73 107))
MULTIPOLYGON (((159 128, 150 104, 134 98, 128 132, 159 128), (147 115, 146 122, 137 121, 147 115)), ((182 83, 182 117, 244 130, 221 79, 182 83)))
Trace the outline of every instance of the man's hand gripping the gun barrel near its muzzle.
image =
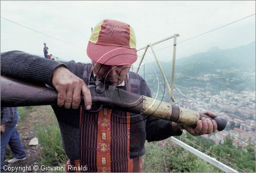
MULTIPOLYGON (((217 117, 216 114, 214 114, 210 111, 204 111, 200 114, 205 114, 205 115, 208 115, 209 117, 212 117, 212 118, 217 117)), ((215 120, 210 120, 209 118, 202 118, 202 120, 199 120, 197 122, 197 126, 195 128, 185 126, 184 129, 193 136, 211 134, 213 132, 216 132, 217 123, 216 123, 215 120)))

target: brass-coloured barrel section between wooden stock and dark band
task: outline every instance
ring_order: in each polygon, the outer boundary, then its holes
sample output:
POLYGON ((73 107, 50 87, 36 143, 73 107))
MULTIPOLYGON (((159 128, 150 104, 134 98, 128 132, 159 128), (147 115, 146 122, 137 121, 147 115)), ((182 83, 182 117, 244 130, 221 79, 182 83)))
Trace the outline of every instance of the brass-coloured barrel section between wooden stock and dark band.
POLYGON ((155 118, 170 120, 172 105, 150 97, 143 96, 142 114, 152 115, 155 118))

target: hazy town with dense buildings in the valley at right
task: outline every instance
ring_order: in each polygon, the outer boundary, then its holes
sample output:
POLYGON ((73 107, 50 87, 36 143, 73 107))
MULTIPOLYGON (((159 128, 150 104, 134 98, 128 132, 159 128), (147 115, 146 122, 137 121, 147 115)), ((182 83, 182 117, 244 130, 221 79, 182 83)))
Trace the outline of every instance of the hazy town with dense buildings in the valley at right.
POLYGON ((179 95, 175 104, 199 112, 211 110, 228 120, 224 131, 203 137, 221 144, 229 135, 233 144, 242 148, 249 143, 255 144, 255 91, 221 91, 219 95, 212 95, 205 90, 186 88, 186 91, 193 91, 187 95, 179 87, 175 90, 179 95))

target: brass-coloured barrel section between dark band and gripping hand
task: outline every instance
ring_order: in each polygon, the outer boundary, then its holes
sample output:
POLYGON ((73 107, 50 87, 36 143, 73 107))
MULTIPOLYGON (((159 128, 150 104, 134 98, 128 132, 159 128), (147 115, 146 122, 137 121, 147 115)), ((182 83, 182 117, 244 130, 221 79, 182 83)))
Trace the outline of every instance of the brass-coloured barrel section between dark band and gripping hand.
POLYGON ((185 109, 183 107, 179 107, 180 109, 180 118, 178 120, 179 123, 190 125, 190 124, 197 124, 199 120, 199 113, 196 111, 191 111, 185 109))

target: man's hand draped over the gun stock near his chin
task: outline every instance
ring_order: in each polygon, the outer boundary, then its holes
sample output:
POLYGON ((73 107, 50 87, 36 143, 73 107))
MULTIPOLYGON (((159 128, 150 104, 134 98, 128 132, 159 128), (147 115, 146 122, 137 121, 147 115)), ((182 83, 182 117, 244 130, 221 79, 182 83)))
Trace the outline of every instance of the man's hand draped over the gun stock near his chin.
POLYGON ((86 83, 68 69, 58 67, 54 70, 52 76, 53 87, 58 92, 58 106, 65 106, 66 109, 77 109, 81 102, 81 93, 84 99, 86 110, 90 110, 92 106, 92 98, 90 90, 86 83))

